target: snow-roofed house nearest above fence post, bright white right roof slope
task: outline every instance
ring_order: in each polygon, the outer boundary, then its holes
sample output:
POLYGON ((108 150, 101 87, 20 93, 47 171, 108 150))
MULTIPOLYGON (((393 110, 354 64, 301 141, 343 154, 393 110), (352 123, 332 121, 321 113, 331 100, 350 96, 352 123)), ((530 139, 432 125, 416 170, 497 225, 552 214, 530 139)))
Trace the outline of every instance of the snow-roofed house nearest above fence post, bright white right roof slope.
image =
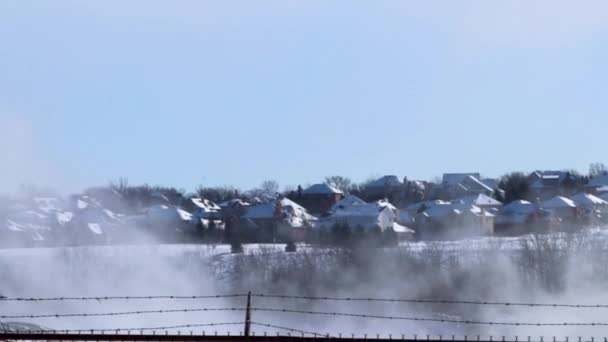
POLYGON ((246 207, 243 218, 254 224, 262 239, 305 241, 317 218, 288 198, 246 207))

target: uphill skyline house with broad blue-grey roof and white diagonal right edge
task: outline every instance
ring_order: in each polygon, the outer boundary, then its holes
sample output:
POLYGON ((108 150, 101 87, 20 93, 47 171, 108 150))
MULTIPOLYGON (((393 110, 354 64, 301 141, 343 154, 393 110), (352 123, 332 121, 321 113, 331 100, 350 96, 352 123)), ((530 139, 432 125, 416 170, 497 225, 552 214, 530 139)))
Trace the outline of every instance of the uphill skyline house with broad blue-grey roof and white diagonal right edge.
POLYGON ((443 175, 439 196, 454 199, 475 194, 492 196, 494 189, 484 184, 479 173, 446 173, 443 175))

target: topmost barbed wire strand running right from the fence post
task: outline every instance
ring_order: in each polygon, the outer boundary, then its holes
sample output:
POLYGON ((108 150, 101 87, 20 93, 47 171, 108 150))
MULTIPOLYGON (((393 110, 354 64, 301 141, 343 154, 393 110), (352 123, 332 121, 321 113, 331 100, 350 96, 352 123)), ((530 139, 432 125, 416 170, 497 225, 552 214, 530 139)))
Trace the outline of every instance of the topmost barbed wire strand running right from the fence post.
POLYGON ((257 298, 296 299, 309 301, 342 301, 342 302, 384 302, 384 303, 412 303, 412 304, 464 304, 464 305, 494 305, 494 306, 526 306, 551 308, 608 308, 608 304, 560 304, 560 303, 525 303, 525 302, 499 302, 499 301, 471 301, 471 300, 443 300, 443 299, 407 299, 407 298, 355 298, 355 297, 311 297, 287 296, 272 294, 253 294, 257 298))

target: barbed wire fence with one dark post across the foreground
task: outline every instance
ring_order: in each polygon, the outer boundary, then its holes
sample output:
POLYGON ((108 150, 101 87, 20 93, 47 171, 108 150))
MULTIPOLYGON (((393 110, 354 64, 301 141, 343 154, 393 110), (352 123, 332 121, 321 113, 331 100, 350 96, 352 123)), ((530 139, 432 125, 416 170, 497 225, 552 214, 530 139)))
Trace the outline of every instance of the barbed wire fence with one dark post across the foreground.
MULTIPOLYGON (((246 313, 245 321, 232 321, 232 322, 214 322, 214 323, 197 323, 197 324, 182 324, 182 325, 167 325, 157 327, 144 327, 144 328, 112 328, 112 329, 75 329, 75 330, 32 330, 32 329, 11 329, 6 324, 2 324, 0 327, 0 341, 2 340, 2 334, 8 333, 63 333, 63 334, 131 334, 133 332, 140 333, 152 333, 164 332, 168 334, 170 331, 177 331, 181 334, 184 330, 190 332, 190 335, 195 334, 194 329, 200 328, 212 328, 212 327, 226 327, 226 326, 239 326, 243 325, 244 329, 241 335, 251 336, 255 334, 255 331, 249 333, 250 328, 269 328, 281 332, 287 332, 289 336, 296 334, 299 337, 323 337, 323 338, 341 338, 342 335, 332 336, 331 334, 324 334, 315 331, 307 331, 305 329, 299 329, 298 327, 287 327, 278 324, 260 322, 256 319, 250 320, 248 317, 251 313, 269 313, 269 314, 280 314, 281 317, 284 315, 302 315, 302 316, 324 316, 324 317, 335 317, 335 318, 355 318, 361 320, 383 320, 383 321, 409 321, 409 322, 433 322, 439 324, 455 324, 455 325, 477 325, 477 326, 507 326, 507 327, 608 327, 608 322, 602 321, 565 321, 565 322, 543 322, 543 321, 483 321, 474 319, 451 319, 451 318, 436 318, 436 317, 419 317, 419 316, 399 316, 399 315, 377 315, 370 313, 360 312, 348 312, 348 311, 323 311, 323 310, 298 310, 287 308, 285 305, 281 306, 257 306, 255 303, 251 305, 253 299, 269 299, 278 300, 281 303, 291 301, 311 301, 311 302, 361 302, 361 303, 407 303, 407 304, 439 304, 439 305, 475 305, 475 306, 503 306, 503 307, 537 307, 537 308, 550 308, 550 309, 607 309, 608 304, 588 304, 588 303, 534 303, 534 302, 507 302, 507 301, 476 301, 476 300, 441 300, 441 299, 407 299, 407 298, 364 298, 364 297, 312 297, 312 296, 290 296, 290 295, 276 295, 276 294, 264 294, 264 293, 247 293, 247 294, 224 294, 224 295, 199 295, 199 296, 97 296, 97 297, 3 297, 0 298, 0 302, 30 302, 30 303, 41 303, 41 302, 67 302, 67 301, 82 301, 82 302, 105 302, 105 301, 161 301, 161 300, 180 300, 180 301, 197 301, 197 300, 213 300, 213 299, 230 299, 230 298, 243 298, 247 299, 247 306, 244 307, 191 307, 191 308, 179 308, 179 309, 158 309, 158 310, 135 310, 135 311, 114 311, 114 312, 80 312, 80 313, 32 313, 32 314, 0 314, 0 319, 24 319, 24 320, 38 320, 38 319, 65 319, 65 318, 94 318, 94 317, 114 317, 114 316, 139 316, 139 315, 170 315, 177 313, 202 313, 202 312, 233 312, 233 313, 246 313), (251 335, 250 335, 251 334, 251 335)), ((603 315, 598 315, 603 316, 603 315)), ((216 333, 217 334, 217 333, 216 333)), ((228 332, 229 334, 229 332, 228 332)), ((205 335, 205 331, 201 331, 198 335, 205 335)), ((335 334, 334 334, 335 335, 335 334)), ((437 335, 433 338, 435 340, 443 340, 441 335, 437 335)), ((350 335, 350 338, 354 338, 354 335, 350 335)), ((377 335, 379 338, 379 335, 377 335)), ((365 336, 367 339, 367 335, 365 336)), ((392 339, 392 336, 390 336, 392 339)), ((401 339, 405 339, 406 335, 401 335, 401 339)), ((396 338, 398 339, 398 338, 396 338)), ((430 340, 430 335, 427 335, 427 340, 430 340)), ((454 335, 452 340, 454 340, 454 335)), ((477 340, 480 337, 477 336, 477 340)), ((490 337, 492 340, 492 337, 490 337)), ((414 340, 418 340, 418 336, 414 335, 414 340)), ((464 340, 468 340, 465 336, 464 340)), ((474 340, 474 339, 473 339, 474 340)), ((498 339, 501 340, 501 339, 498 339)), ((505 340, 505 337, 502 337, 505 340)), ((518 337, 511 339, 513 341, 519 341, 518 337)), ((525 341, 522 339, 521 341, 525 341)), ((530 338, 528 338, 530 340, 530 338)), ((556 341, 555 338, 553 338, 556 341)), ((566 340, 568 339, 566 338, 566 340)), ((581 339, 579 338, 579 341, 581 339)), ((603 342, 608 342, 608 339, 604 338, 603 342)), ((545 342, 545 341, 543 341, 545 342)), ((547 341, 549 342, 549 340, 547 341)), ((568 341, 569 342, 569 341, 568 341)), ((596 342, 594 339, 591 342, 596 342)), ((601 342, 601 341, 597 341, 601 342)))

